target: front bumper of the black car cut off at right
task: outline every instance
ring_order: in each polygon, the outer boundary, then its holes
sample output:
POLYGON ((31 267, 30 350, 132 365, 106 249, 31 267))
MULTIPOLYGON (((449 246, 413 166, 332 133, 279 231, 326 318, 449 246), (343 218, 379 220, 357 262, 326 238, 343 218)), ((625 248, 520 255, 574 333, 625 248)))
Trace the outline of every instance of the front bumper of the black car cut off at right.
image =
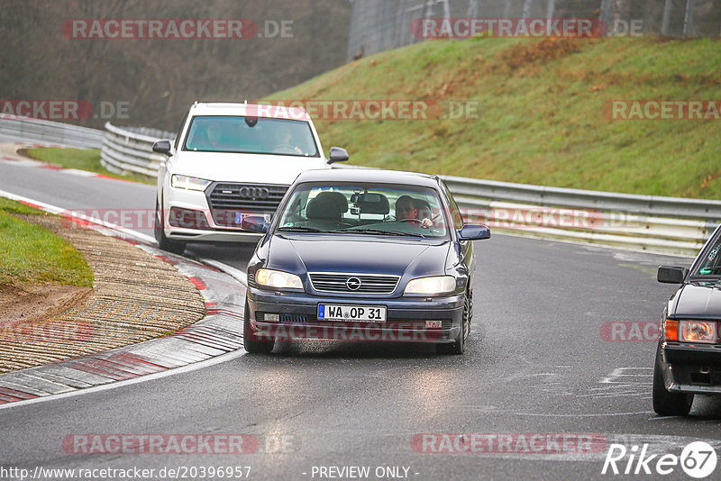
POLYGON ((669 392, 721 394, 721 345, 664 342, 663 381, 669 392))

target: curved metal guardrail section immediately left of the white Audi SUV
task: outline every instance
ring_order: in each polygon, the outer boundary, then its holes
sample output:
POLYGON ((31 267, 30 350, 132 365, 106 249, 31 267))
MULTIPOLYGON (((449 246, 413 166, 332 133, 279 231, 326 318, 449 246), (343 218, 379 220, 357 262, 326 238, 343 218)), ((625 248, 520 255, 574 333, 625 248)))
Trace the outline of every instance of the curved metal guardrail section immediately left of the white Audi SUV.
POLYGON ((165 156, 152 151, 152 144, 160 139, 172 139, 172 132, 147 127, 116 127, 105 123, 100 163, 116 174, 158 176, 158 167, 165 156))

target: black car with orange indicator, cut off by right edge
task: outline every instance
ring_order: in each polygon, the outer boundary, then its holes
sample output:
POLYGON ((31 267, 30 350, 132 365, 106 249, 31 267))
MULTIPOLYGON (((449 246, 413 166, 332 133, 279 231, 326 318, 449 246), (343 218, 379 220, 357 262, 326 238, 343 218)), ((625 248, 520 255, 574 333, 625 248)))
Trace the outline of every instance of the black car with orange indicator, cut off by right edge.
POLYGON ((690 269, 662 266, 658 281, 681 286, 663 312, 653 411, 684 415, 695 394, 721 394, 721 226, 690 269))

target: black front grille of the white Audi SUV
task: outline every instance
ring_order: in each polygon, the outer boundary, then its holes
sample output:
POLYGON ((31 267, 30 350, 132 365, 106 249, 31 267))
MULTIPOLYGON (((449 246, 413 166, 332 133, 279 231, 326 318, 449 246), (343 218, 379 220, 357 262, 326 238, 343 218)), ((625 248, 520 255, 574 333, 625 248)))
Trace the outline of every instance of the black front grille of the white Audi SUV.
POLYGON ((274 213, 288 186, 272 184, 215 184, 206 194, 213 221, 240 227, 238 213, 274 213))

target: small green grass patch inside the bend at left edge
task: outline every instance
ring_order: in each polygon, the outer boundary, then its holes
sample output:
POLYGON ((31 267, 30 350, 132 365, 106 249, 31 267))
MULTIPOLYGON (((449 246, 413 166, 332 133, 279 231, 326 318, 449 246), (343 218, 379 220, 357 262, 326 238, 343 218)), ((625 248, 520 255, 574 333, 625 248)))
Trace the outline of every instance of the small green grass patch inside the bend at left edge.
POLYGON ((0 288, 46 282, 93 286, 93 271, 72 244, 14 214, 43 213, 0 198, 0 288))

